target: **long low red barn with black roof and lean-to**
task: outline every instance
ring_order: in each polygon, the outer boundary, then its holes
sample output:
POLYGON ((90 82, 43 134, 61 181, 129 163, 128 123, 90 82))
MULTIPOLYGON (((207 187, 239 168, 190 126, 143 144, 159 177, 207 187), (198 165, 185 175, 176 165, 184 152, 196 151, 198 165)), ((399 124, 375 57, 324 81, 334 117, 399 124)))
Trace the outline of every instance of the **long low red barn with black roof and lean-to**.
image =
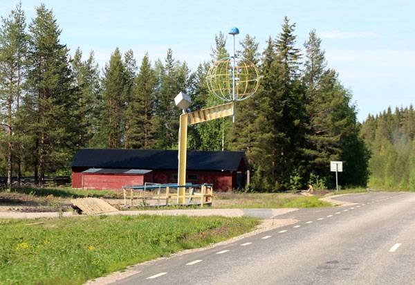
MULTIPOLYGON (((72 167, 72 187, 120 189, 124 185, 177 183, 177 150, 80 149, 72 167)), ((243 151, 187 151, 187 179, 228 191, 246 185, 243 151)))

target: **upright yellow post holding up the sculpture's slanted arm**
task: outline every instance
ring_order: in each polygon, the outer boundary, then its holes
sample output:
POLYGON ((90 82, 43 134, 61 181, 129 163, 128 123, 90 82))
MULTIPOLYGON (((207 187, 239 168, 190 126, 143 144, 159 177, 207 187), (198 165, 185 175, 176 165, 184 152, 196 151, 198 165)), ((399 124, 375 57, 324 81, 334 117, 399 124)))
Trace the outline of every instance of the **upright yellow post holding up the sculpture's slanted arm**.
MULTIPOLYGON (((178 174, 177 184, 186 185, 186 149, 187 149, 187 113, 180 116, 180 129, 178 131, 178 174)), ((177 195, 177 203, 185 204, 185 187, 179 187, 177 195)))

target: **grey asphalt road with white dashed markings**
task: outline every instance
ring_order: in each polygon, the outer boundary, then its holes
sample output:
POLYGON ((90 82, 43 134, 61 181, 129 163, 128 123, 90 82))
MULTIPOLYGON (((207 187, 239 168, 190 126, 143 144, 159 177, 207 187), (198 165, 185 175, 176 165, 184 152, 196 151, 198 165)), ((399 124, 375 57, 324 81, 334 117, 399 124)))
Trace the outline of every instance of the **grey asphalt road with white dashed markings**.
POLYGON ((116 284, 415 284, 415 193, 353 194, 358 204, 224 246, 143 265, 116 284))

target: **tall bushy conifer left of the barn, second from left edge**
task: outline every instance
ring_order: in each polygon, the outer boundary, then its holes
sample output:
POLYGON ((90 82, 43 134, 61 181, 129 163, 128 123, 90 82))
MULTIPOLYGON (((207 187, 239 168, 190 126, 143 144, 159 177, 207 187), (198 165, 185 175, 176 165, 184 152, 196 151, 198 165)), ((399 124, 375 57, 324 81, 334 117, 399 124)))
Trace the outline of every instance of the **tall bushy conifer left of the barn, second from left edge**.
POLYGON ((29 26, 28 96, 26 124, 33 135, 35 176, 44 184, 46 171, 66 165, 77 138, 73 111, 76 92, 68 62, 68 49, 59 42, 59 29, 52 10, 42 4, 29 26))

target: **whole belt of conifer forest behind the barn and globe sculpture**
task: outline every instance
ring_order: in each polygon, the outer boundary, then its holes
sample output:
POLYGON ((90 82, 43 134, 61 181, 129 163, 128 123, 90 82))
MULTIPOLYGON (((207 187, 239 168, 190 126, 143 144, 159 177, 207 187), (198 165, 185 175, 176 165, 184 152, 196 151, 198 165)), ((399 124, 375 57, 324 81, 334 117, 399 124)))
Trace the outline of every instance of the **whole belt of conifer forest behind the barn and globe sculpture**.
MULTIPOLYGON (((0 176, 9 185, 12 176, 35 176, 43 185, 47 175, 69 174, 80 148, 175 149, 179 91, 190 95, 192 110, 222 103, 205 77, 215 60, 229 56, 223 33, 212 37, 211 61, 194 71, 167 47, 155 62, 115 48, 100 69, 93 51, 77 48, 71 56, 61 33, 44 5, 30 21, 20 4, 3 17, 0 176)), ((374 186, 415 185, 415 171, 408 170, 415 170, 413 109, 369 116, 361 125, 351 91, 327 67, 321 44, 315 30, 298 43, 287 17, 264 50, 255 36, 243 37, 238 57, 259 68, 259 90, 237 103, 236 122, 190 127, 189 148, 246 151, 250 190, 333 187, 330 160, 344 161, 343 186, 365 186, 370 173, 374 186)))

